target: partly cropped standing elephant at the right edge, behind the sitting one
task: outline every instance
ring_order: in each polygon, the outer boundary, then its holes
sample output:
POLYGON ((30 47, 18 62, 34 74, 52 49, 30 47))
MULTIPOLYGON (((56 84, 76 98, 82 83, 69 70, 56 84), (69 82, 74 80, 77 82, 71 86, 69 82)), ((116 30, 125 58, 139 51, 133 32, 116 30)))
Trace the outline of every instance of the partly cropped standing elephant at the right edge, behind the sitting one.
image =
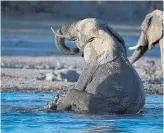
POLYGON ((160 10, 154 10, 146 15, 141 25, 141 35, 136 46, 129 47, 134 50, 130 62, 136 62, 148 49, 152 49, 157 43, 160 45, 161 64, 164 71, 164 46, 163 46, 164 16, 160 10))

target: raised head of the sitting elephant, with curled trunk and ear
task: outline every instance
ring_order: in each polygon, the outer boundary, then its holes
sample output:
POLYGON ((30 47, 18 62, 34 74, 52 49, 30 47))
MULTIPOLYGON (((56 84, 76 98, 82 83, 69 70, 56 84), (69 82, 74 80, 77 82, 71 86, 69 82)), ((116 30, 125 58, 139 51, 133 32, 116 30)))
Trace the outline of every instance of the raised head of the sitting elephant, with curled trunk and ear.
POLYGON ((124 40, 104 21, 99 19, 88 18, 64 25, 54 34, 56 47, 59 51, 71 55, 81 50, 84 52, 86 62, 96 61, 102 64, 104 61, 108 62, 117 58, 120 53, 126 55, 124 40), (66 47, 65 39, 74 43, 77 48, 66 47))

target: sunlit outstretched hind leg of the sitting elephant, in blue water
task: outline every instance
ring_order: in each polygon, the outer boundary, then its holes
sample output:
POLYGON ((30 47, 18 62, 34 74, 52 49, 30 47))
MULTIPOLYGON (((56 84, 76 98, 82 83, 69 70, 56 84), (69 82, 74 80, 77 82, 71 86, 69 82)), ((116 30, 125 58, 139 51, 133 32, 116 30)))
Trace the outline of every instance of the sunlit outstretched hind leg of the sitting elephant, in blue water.
POLYGON ((47 105, 43 107, 43 109, 74 111, 78 113, 89 112, 91 98, 91 94, 76 89, 71 89, 64 96, 55 96, 47 105))

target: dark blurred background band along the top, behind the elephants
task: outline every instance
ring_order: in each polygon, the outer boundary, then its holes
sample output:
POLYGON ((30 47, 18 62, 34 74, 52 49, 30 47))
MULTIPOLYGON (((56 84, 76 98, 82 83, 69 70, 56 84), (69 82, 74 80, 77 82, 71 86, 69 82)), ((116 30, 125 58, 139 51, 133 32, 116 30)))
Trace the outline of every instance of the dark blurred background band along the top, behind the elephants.
POLYGON ((79 20, 96 17, 114 23, 142 22, 162 1, 2 1, 2 16, 11 19, 79 20))

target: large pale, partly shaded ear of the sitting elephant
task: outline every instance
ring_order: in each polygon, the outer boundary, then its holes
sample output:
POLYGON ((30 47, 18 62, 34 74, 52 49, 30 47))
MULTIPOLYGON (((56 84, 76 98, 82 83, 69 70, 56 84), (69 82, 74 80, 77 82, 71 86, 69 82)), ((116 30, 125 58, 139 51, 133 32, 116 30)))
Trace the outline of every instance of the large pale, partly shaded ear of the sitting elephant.
POLYGON ((124 40, 106 24, 99 24, 96 28, 96 37, 84 48, 86 62, 105 64, 126 55, 124 40))

